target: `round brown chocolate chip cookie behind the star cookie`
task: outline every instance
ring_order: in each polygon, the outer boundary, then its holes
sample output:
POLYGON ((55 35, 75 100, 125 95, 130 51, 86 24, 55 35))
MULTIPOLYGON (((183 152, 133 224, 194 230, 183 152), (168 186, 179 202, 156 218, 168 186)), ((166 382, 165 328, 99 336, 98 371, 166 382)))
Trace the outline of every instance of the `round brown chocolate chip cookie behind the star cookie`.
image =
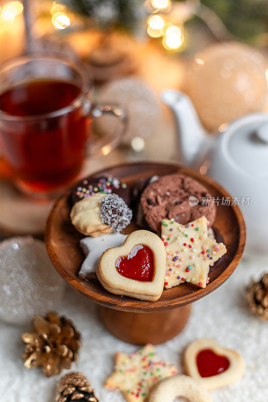
POLYGON ((211 226, 216 216, 216 206, 211 205, 208 190, 183 174, 168 174, 148 184, 141 194, 140 203, 146 222, 155 232, 165 218, 173 218, 185 225, 205 215, 211 226), (210 203, 206 202, 209 205, 203 205, 202 198, 210 200, 210 203))

